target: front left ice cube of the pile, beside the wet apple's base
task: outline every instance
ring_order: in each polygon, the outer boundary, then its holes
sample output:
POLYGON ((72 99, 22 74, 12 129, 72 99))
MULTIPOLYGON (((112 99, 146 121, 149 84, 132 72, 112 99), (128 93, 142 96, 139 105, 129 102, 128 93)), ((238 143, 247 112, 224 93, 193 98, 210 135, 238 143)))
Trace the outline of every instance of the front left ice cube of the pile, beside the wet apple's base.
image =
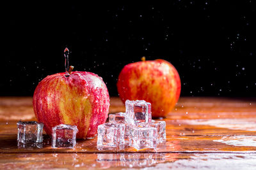
POLYGON ((109 122, 98 126, 97 148, 103 149, 124 149, 124 124, 109 122))

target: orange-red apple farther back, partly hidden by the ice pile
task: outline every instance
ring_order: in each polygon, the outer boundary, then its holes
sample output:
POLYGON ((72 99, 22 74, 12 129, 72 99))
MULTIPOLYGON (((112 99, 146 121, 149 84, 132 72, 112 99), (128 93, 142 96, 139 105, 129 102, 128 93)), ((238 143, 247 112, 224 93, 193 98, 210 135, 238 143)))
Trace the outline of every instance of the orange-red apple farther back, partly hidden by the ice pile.
POLYGON ((166 60, 134 62, 120 72, 117 90, 123 103, 145 100, 152 104, 152 117, 166 117, 179 100, 180 76, 166 60))

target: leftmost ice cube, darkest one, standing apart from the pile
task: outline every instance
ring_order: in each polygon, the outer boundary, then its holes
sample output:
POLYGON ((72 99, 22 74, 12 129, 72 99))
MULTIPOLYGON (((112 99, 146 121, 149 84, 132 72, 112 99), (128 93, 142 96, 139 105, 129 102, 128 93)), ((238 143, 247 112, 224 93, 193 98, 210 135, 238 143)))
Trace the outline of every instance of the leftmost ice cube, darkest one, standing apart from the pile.
POLYGON ((38 122, 17 122, 19 143, 42 143, 44 124, 38 122))

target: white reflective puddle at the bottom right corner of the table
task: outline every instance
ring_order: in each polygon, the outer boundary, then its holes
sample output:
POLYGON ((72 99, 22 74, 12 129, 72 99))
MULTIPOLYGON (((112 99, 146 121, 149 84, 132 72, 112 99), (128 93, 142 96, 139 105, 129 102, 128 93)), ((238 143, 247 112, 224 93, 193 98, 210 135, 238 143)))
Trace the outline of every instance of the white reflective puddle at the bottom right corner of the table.
POLYGON ((255 153, 206 153, 145 169, 255 169, 255 160, 255 153))

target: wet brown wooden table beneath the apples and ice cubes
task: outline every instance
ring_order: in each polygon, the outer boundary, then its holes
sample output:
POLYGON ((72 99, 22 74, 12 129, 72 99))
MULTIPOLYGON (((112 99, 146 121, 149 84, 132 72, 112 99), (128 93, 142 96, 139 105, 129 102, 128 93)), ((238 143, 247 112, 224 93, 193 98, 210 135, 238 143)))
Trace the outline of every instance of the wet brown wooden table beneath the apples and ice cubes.
MULTIPOLYGON (((110 112, 124 111, 111 97, 110 112)), ((157 150, 99 151, 97 138, 75 149, 17 146, 17 121, 35 120, 31 97, 0 97, 0 169, 256 169, 256 99, 181 97, 157 150)))

